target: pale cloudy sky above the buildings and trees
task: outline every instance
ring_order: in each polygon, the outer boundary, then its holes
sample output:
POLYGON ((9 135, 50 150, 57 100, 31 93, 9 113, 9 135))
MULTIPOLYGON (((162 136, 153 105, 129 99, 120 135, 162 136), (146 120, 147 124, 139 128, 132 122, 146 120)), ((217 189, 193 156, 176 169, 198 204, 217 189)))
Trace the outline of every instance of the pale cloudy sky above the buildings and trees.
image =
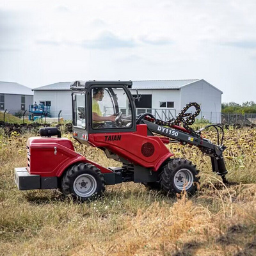
POLYGON ((0 81, 205 79, 223 102, 256 102, 255 13, 255 0, 0 0, 0 81))

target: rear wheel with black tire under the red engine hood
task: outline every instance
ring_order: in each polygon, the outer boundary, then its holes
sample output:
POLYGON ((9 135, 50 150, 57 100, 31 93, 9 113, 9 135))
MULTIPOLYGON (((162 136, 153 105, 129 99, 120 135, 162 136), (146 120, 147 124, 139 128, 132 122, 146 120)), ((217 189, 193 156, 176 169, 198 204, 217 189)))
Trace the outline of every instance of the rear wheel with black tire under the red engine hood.
POLYGON ((105 190, 104 175, 99 168, 89 163, 70 167, 61 181, 61 191, 80 202, 95 200, 105 190))

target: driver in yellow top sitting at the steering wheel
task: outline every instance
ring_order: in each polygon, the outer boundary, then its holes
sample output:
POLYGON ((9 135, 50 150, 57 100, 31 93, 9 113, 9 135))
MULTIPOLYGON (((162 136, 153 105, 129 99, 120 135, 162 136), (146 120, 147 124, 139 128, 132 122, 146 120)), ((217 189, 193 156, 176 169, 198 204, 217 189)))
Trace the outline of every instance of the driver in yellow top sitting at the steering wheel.
POLYGON ((115 115, 111 116, 102 116, 100 111, 98 101, 101 101, 104 97, 104 89, 103 88, 93 88, 93 97, 92 97, 92 120, 93 123, 102 123, 104 121, 112 121, 115 122, 115 115))

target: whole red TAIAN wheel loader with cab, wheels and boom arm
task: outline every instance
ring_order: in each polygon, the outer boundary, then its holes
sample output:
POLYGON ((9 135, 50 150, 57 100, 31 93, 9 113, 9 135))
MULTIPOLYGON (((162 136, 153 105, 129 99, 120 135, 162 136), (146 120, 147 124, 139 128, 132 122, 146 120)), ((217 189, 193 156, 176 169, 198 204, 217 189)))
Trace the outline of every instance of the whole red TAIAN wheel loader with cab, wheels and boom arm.
POLYGON ((195 102, 163 121, 152 113, 136 116, 131 81, 76 81, 70 88, 73 137, 79 143, 100 148, 122 167, 93 163, 75 152, 72 142, 61 138, 56 127, 42 128, 40 137, 28 139, 28 166, 15 168, 15 183, 20 190, 60 189, 64 195, 83 202, 102 195, 106 185, 140 182, 170 195, 183 190, 192 195, 199 182, 198 170, 188 159, 175 158, 165 146, 168 143, 200 148, 211 157, 212 171, 226 181, 223 129, 219 125, 204 128, 217 129, 217 145, 202 138, 202 129, 191 129, 189 125, 200 113, 195 102))

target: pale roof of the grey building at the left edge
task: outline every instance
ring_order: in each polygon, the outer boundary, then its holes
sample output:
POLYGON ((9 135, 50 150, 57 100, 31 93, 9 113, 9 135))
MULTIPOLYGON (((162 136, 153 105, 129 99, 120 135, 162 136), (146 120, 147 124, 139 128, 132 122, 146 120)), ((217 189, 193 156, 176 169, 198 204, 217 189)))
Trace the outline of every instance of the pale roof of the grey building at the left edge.
POLYGON ((32 89, 18 83, 1 82, 0 93, 4 94, 19 94, 19 95, 33 95, 32 89))

